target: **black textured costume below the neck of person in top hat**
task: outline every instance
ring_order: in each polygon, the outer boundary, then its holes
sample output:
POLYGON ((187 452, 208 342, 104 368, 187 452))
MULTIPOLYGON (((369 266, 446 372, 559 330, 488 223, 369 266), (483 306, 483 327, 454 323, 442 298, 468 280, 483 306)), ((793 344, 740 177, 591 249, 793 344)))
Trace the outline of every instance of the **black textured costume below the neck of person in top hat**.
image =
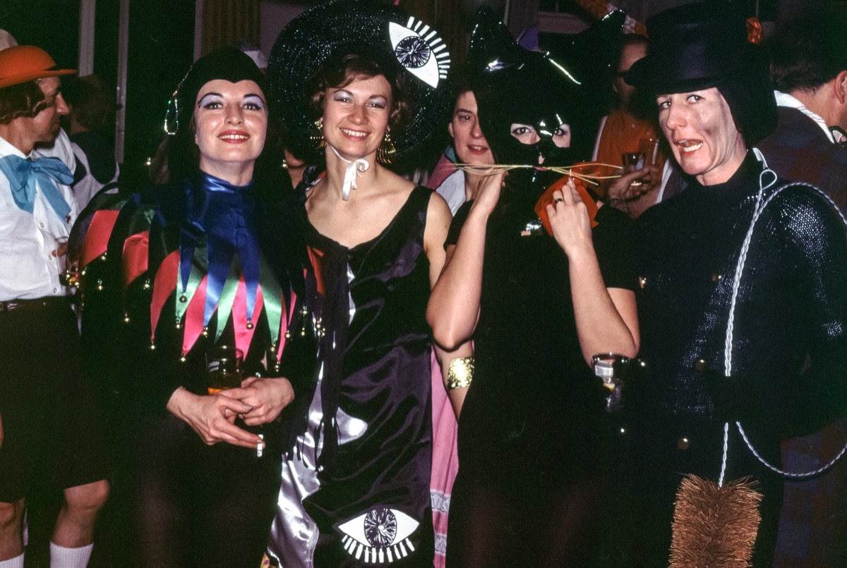
MULTIPOLYGON (((784 190, 762 213, 734 314, 732 376, 710 390, 695 369, 724 372, 733 281, 760 176, 764 197, 783 185, 750 154, 727 183, 689 180, 637 223, 640 358, 635 451, 636 549, 630 565, 667 565, 673 501, 682 475, 717 482, 726 412, 742 412, 756 450, 778 467, 780 440, 847 409, 847 245, 842 221, 805 186, 784 190), (805 369, 807 357, 811 367, 805 369), (717 408, 713 396, 734 408, 717 408)), ((761 483, 755 565, 769 566, 782 478, 751 454, 734 425, 725 479, 761 483)))

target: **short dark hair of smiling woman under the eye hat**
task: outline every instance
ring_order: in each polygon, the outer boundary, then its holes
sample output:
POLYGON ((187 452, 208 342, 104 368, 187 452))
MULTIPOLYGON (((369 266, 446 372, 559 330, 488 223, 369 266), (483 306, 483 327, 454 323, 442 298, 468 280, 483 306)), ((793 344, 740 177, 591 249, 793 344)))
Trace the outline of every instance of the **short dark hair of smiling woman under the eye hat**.
POLYGON ((314 74, 309 92, 312 93, 311 109, 315 118, 324 112, 324 96, 328 89, 340 89, 357 79, 370 79, 379 75, 385 77, 391 85, 391 113, 388 125, 395 128, 405 123, 409 118, 409 102, 403 74, 390 72, 388 65, 379 63, 379 57, 364 53, 345 53, 329 57, 314 74))

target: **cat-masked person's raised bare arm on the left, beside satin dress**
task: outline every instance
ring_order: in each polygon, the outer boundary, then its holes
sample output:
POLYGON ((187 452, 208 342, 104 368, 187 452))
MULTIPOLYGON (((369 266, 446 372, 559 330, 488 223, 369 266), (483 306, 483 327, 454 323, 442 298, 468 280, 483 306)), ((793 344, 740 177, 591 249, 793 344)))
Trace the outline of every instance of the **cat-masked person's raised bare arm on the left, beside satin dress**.
POLYGON ((481 184, 456 246, 448 249, 444 270, 429 297, 427 321, 435 342, 448 351, 468 341, 477 324, 486 225, 500 198, 501 183, 502 173, 497 173, 481 184))

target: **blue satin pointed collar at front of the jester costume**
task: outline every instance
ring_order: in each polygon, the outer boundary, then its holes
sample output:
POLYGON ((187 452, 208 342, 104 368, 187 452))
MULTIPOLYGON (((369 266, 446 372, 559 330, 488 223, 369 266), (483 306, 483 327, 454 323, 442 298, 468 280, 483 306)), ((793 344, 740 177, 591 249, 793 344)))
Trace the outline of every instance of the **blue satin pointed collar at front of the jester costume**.
MULTIPOLYGON (((246 283, 247 319, 252 319, 259 281, 256 200, 252 183, 235 186, 208 173, 201 173, 201 190, 190 195, 188 221, 206 234, 208 280, 203 326, 207 326, 212 318, 235 254, 246 283)), ((180 251, 180 275, 185 287, 191 273, 194 247, 191 243, 180 248, 183 249, 180 251)))

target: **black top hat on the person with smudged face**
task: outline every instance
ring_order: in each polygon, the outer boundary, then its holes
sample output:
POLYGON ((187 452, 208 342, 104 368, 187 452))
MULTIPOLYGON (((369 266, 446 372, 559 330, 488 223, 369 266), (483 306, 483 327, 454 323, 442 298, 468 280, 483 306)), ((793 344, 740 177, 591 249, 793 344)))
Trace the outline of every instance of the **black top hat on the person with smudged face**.
POLYGON ((746 22, 731 8, 684 4, 647 19, 647 57, 625 76, 657 95, 702 90, 750 73, 767 73, 767 57, 747 41, 746 22))

